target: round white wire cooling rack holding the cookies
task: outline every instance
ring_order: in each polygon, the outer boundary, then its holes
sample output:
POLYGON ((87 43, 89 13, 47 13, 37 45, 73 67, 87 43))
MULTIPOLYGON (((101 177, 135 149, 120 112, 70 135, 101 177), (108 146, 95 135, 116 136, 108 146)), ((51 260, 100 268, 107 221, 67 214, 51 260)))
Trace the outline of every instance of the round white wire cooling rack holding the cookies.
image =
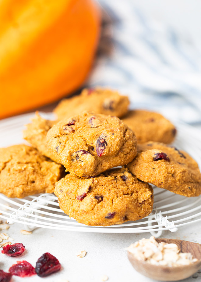
MULTIPOLYGON (((24 143, 22 130, 34 113, 0 121, 0 147, 24 143)), ((52 114, 43 114, 51 118, 52 114)), ((195 128, 176 123, 178 135, 174 146, 187 151, 201 168, 201 134, 195 128)), ((104 233, 150 232, 159 237, 163 230, 176 232, 180 226, 201 221, 201 196, 187 198, 153 187, 153 212, 144 219, 107 227, 93 227, 78 223, 59 208, 54 194, 40 194, 23 199, 0 194, 0 217, 8 223, 20 223, 26 230, 43 227, 56 230, 104 233)))

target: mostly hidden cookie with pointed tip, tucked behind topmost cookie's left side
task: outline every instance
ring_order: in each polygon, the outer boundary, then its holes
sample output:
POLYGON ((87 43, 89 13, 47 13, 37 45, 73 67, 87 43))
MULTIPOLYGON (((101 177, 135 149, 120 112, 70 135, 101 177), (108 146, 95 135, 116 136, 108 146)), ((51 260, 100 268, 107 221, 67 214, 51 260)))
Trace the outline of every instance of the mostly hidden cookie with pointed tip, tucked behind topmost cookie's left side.
POLYGON ((42 155, 51 158, 51 160, 59 163, 56 156, 51 154, 45 143, 45 137, 48 130, 56 123, 42 118, 38 112, 32 122, 26 125, 26 130, 23 131, 23 138, 36 148, 42 155))

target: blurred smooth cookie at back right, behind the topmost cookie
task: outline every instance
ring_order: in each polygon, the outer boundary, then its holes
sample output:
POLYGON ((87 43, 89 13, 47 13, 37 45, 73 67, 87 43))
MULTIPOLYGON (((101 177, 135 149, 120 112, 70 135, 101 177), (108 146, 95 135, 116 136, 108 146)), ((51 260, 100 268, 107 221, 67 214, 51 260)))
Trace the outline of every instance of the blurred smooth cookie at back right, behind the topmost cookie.
POLYGON ((130 110, 122 121, 135 132, 138 143, 156 141, 168 144, 176 135, 175 126, 155 112, 130 110))

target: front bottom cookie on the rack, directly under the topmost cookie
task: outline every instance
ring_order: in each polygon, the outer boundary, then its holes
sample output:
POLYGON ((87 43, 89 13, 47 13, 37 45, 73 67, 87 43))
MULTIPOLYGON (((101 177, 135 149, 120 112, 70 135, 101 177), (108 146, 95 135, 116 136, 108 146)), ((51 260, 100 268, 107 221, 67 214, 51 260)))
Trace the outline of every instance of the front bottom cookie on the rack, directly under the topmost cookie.
POLYGON ((113 169, 83 179, 67 174, 55 186, 60 208, 69 217, 91 226, 109 226, 149 215, 153 189, 128 169, 113 169))

